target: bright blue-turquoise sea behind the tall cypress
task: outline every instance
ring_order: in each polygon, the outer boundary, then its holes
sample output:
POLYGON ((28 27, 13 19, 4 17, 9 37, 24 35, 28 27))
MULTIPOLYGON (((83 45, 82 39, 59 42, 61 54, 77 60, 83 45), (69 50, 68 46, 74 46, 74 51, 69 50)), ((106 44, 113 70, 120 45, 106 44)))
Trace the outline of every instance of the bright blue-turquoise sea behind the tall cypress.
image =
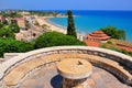
MULTIPOLYGON (((66 13, 66 11, 56 11, 66 13)), ((76 30, 78 33, 86 35, 105 26, 116 26, 125 30, 127 41, 132 42, 132 11, 91 11, 76 10, 73 11, 76 30)), ((50 22, 67 28, 67 18, 53 18, 50 22)))

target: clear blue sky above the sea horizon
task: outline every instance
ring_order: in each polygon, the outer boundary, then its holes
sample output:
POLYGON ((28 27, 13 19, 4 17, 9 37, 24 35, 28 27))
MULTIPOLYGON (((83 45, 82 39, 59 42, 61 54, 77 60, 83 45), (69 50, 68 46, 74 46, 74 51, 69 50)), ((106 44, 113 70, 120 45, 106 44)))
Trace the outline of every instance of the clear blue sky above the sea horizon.
POLYGON ((132 0, 0 0, 0 9, 132 10, 132 0))

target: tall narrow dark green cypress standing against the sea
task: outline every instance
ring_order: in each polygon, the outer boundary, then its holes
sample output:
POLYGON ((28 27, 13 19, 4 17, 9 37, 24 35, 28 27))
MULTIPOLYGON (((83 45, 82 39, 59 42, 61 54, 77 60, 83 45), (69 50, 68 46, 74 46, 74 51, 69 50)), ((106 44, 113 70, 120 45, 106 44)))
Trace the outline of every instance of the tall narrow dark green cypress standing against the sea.
POLYGON ((77 37, 75 23, 74 23, 74 19, 73 19, 73 12, 72 11, 67 11, 67 14, 68 14, 67 35, 77 37))

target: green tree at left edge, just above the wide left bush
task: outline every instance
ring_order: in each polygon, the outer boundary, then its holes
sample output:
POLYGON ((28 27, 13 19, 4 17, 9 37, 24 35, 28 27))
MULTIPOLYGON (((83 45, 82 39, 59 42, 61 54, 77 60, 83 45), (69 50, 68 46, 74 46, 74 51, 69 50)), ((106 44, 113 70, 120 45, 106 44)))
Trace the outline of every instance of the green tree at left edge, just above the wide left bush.
POLYGON ((9 26, 3 26, 0 30, 0 37, 15 38, 15 35, 9 26))

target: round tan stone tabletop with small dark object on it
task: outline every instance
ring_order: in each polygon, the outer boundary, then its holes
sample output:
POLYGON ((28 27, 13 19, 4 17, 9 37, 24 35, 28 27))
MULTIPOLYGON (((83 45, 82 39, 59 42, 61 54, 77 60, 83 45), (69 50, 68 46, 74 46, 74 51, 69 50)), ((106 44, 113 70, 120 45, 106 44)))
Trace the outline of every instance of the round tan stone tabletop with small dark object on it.
POLYGON ((80 58, 67 58, 57 64, 59 74, 69 79, 87 78, 92 73, 92 65, 80 58))

